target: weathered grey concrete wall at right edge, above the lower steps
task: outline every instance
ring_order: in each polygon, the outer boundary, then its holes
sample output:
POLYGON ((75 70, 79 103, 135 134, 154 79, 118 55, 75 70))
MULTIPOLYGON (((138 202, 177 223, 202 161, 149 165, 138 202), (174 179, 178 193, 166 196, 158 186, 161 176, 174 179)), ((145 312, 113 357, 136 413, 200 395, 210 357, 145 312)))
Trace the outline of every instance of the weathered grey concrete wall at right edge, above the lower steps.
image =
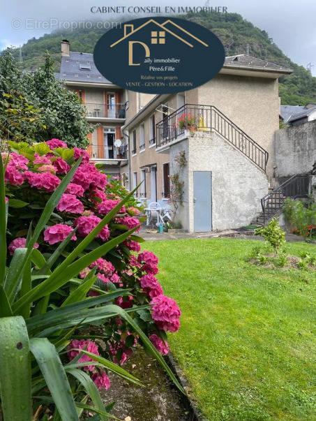
POLYGON ((275 140, 278 177, 305 174, 316 160, 316 121, 281 128, 275 140))

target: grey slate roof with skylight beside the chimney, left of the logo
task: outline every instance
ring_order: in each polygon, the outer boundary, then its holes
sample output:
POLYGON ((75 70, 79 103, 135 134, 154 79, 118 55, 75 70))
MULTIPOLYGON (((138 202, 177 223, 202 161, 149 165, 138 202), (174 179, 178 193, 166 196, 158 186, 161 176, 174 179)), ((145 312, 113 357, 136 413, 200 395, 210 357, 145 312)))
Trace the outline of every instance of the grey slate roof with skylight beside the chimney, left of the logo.
POLYGON ((61 56, 61 72, 55 74, 58 79, 74 82, 98 82, 112 84, 96 68, 93 54, 88 52, 70 51, 69 56, 61 56), (80 66, 88 65, 90 69, 82 69, 80 66))

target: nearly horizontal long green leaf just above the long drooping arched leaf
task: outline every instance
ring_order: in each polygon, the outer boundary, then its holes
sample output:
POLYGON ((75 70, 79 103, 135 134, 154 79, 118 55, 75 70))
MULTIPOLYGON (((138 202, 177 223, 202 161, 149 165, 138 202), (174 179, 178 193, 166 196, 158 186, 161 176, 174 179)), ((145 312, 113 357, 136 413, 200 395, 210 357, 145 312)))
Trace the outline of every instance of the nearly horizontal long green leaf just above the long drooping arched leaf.
POLYGON ((120 297, 121 295, 126 295, 128 293, 129 290, 117 290, 113 293, 107 293, 100 295, 99 297, 87 298, 84 301, 68 304, 67 306, 64 306, 60 309, 48 311, 45 314, 33 316, 26 321, 27 328, 29 332, 34 332, 38 329, 44 329, 48 326, 57 325, 59 322, 63 322, 64 320, 67 321, 70 316, 72 317, 74 315, 79 315, 79 318, 84 318, 84 316, 82 316, 84 313, 81 313, 82 310, 89 309, 89 307, 93 307, 98 304, 112 301, 115 298, 120 297))

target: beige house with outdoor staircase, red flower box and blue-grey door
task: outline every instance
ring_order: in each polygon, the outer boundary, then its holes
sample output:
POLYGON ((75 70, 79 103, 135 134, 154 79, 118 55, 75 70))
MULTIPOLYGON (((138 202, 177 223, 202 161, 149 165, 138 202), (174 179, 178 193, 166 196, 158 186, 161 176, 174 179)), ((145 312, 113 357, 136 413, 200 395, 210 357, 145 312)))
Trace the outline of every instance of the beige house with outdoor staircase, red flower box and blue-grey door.
POLYGON ((278 78, 288 68, 246 54, 226 57, 220 73, 181 94, 128 92, 130 186, 140 198, 169 200, 170 177, 181 186, 176 218, 189 232, 237 228, 261 212, 276 184, 278 78), (179 156, 186 165, 179 168, 179 156))

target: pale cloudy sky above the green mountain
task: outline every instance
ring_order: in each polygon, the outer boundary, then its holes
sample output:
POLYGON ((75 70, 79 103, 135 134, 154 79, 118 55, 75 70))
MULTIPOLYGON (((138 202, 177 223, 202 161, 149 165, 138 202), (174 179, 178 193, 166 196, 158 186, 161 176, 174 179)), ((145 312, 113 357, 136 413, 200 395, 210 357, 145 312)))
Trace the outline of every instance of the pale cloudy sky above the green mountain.
MULTIPOLYGON (((290 59, 306 67, 313 66, 316 76, 316 1, 314 0, 10 0, 1 8, 0 50, 22 45, 53 29, 84 20, 108 20, 107 14, 91 13, 92 6, 226 6, 268 32, 273 42, 290 59), (44 25, 47 27, 43 28, 44 25)), ((144 17, 144 15, 139 15, 144 17)))

